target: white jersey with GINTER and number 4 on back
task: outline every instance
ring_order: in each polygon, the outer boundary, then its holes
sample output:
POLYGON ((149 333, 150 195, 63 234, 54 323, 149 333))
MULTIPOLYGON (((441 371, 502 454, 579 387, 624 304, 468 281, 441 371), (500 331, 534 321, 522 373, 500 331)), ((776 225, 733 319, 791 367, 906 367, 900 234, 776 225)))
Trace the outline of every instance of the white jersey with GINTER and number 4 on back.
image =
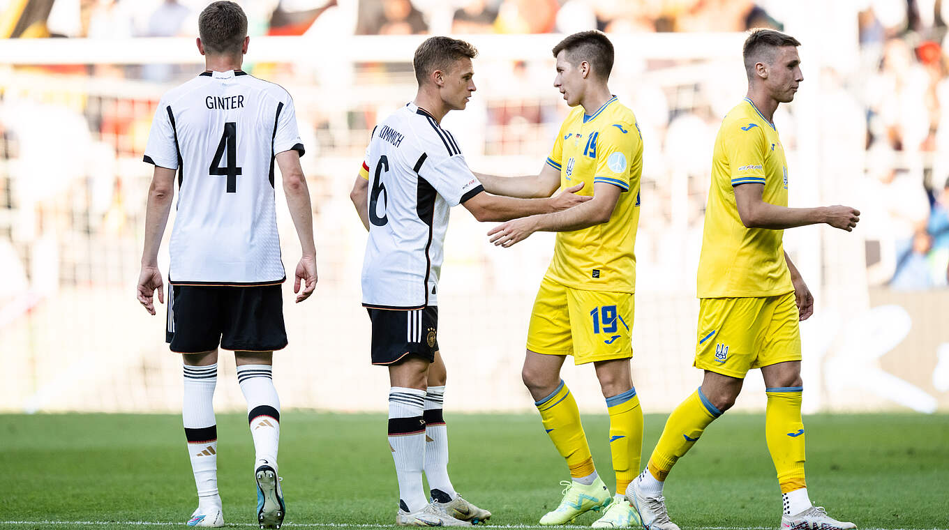
POLYGON ((278 153, 304 154, 293 100, 240 70, 204 72, 158 102, 144 160, 178 170, 170 283, 286 279, 273 198, 278 153))

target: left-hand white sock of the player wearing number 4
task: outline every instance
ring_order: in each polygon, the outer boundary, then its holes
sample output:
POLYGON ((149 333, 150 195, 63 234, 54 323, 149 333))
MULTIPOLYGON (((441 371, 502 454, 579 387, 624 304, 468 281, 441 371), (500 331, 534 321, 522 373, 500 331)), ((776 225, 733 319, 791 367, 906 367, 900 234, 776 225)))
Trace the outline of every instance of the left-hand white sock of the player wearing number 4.
POLYGON ((217 493, 217 422, 214 419, 214 385, 217 364, 184 365, 184 395, 181 418, 188 456, 195 473, 197 503, 201 513, 221 508, 217 493))

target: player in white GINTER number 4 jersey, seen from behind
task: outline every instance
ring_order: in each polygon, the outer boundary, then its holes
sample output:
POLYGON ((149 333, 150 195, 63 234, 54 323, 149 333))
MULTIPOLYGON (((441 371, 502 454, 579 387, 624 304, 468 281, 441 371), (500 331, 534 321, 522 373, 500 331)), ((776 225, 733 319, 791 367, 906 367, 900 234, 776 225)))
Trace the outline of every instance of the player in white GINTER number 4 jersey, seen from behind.
POLYGON ((166 340, 184 362, 183 419, 197 486, 189 526, 223 526, 217 493, 214 385, 218 346, 233 350, 248 404, 256 452, 257 519, 280 528, 284 505, 277 475, 280 401, 272 354, 287 345, 274 205, 274 161, 303 256, 296 267, 297 302, 316 286, 316 249, 303 144, 286 90, 240 69, 247 53, 247 16, 233 2, 214 2, 198 18, 198 51, 206 71, 158 102, 144 160, 155 165, 145 217, 138 298, 155 315, 163 300, 158 247, 175 194, 170 243, 166 340), (301 290, 301 283, 303 288, 301 290))

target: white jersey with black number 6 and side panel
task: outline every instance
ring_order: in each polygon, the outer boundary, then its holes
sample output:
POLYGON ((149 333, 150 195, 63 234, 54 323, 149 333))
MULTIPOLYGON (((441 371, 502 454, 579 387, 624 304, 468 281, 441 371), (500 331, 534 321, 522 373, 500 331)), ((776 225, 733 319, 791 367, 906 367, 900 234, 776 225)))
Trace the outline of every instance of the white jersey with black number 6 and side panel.
POLYGON ((448 212, 484 187, 452 134, 409 103, 372 132, 368 172, 369 240, 363 305, 413 309, 437 305, 448 212))

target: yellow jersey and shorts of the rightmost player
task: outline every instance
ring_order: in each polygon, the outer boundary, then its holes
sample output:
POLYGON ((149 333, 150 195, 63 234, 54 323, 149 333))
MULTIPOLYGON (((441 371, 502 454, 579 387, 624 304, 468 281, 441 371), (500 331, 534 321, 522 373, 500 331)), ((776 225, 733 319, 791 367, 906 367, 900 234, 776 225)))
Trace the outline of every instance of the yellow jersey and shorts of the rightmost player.
POLYGON ((762 184, 765 202, 788 206, 784 147, 774 124, 748 98, 718 130, 698 261, 695 366, 734 377, 801 358, 784 230, 742 224, 735 186, 743 184, 762 184))

